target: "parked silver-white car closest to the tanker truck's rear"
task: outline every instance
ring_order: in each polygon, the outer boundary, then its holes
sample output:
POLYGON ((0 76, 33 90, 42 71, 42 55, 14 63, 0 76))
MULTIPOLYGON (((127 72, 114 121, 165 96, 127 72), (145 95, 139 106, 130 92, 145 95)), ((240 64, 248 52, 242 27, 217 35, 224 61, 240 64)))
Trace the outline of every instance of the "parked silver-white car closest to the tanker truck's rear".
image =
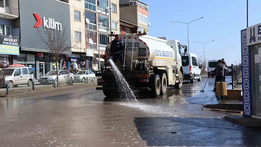
POLYGON ((74 74, 74 81, 95 81, 96 75, 90 70, 81 70, 74 74))

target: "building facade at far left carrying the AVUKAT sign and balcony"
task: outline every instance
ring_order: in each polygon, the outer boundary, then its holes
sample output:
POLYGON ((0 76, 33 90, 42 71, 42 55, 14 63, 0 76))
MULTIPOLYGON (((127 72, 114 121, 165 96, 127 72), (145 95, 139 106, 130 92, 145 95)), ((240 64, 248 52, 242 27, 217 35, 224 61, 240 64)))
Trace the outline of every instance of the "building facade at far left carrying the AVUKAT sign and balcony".
POLYGON ((11 65, 19 55, 20 29, 18 0, 0 1, 0 66, 11 65))

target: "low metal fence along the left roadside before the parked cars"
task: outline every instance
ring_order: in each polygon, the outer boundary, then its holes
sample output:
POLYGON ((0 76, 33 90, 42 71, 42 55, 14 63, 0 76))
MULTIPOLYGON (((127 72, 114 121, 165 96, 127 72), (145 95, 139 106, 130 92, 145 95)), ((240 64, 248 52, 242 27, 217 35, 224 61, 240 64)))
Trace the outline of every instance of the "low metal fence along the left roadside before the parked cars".
MULTIPOLYGON (((86 78, 84 81, 72 81, 72 80, 59 80, 59 87, 72 86, 72 85, 84 85, 90 83, 97 83, 97 79, 93 81, 93 78, 86 78)), ((57 81, 51 80, 47 82, 38 82, 38 81, 27 81, 25 83, 10 83, 10 81, 5 83, 0 89, 1 95, 10 95, 15 93, 30 92, 36 90, 44 90, 57 88, 57 81)))

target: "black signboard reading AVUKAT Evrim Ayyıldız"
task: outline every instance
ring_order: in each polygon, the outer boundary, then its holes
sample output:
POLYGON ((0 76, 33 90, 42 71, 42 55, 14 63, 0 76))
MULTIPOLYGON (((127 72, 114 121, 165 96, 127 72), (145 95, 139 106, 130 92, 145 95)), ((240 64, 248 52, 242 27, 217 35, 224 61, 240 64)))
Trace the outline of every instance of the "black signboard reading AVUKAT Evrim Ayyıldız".
POLYGON ((12 35, 0 35, 0 44, 20 46, 20 37, 12 35))

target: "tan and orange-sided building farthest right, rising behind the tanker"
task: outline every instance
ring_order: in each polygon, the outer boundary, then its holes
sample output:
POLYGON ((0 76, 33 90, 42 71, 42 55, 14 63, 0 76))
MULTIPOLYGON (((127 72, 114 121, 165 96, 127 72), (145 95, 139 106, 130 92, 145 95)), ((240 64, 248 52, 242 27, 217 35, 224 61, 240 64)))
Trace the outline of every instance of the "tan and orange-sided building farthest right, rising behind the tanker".
POLYGON ((119 3, 121 32, 149 33, 149 6, 139 0, 120 0, 119 3))

